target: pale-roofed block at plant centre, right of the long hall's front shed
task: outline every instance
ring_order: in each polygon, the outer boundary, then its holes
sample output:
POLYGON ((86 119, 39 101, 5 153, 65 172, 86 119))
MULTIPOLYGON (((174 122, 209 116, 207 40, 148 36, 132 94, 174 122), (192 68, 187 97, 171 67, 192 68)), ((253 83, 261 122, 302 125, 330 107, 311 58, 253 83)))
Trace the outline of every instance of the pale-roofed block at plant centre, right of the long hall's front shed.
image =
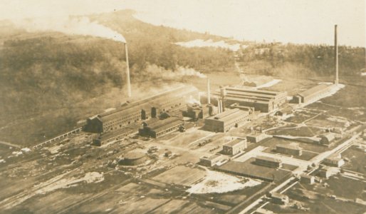
POLYGON ((226 132, 230 128, 239 127, 242 123, 249 121, 249 113, 237 108, 229 109, 216 116, 211 116, 204 120, 204 127, 208 131, 226 132))

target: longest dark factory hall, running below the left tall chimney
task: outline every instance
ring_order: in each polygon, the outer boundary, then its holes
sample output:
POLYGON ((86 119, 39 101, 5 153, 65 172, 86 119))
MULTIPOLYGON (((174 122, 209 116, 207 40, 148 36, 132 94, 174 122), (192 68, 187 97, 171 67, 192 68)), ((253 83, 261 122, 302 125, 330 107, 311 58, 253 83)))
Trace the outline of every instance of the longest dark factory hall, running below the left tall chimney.
POLYGON ((157 118, 162 112, 174 112, 184 108, 189 99, 197 96, 196 88, 179 86, 140 101, 127 103, 114 111, 88 118, 83 129, 90 133, 116 131, 138 121, 157 118))

